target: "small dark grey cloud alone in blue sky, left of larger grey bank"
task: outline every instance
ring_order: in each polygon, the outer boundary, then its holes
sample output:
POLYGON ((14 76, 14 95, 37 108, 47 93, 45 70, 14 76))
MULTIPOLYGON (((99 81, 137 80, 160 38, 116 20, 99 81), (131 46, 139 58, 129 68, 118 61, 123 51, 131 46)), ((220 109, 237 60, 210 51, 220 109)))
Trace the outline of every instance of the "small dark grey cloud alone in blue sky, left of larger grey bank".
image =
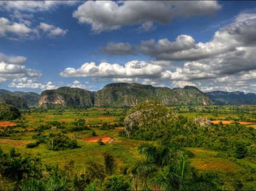
POLYGON ((99 51, 105 55, 136 55, 129 43, 109 42, 106 47, 99 46, 99 51))

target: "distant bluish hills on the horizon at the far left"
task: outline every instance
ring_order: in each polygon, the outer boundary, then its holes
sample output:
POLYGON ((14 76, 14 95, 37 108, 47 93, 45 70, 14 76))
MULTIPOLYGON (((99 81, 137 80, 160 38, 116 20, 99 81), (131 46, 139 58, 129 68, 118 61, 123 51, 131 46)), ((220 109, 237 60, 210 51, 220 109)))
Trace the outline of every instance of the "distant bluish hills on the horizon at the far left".
POLYGON ((34 92, 23 92, 23 91, 8 91, 8 90, 0 90, 0 96, 1 95, 13 95, 22 97, 27 101, 28 106, 36 106, 39 101, 39 94, 34 92))

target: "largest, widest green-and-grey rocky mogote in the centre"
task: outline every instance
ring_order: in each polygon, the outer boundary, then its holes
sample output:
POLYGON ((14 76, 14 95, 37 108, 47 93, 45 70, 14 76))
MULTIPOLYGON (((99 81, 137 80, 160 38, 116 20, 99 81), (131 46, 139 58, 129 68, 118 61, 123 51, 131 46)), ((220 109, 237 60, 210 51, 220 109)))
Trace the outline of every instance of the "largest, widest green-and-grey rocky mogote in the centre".
POLYGON ((108 84, 95 93, 95 106, 135 106, 143 101, 157 100, 166 105, 208 105, 210 98, 195 87, 176 88, 153 87, 136 83, 108 84))

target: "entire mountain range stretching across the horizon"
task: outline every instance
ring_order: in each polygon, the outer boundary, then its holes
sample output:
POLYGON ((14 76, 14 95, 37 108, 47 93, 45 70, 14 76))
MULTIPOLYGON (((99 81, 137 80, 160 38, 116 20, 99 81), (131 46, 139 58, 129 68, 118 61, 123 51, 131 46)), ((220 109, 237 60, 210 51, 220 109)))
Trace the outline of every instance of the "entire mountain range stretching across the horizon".
POLYGON ((113 83, 99 91, 61 87, 45 90, 40 95, 29 92, 0 90, 0 103, 13 104, 18 109, 28 106, 45 107, 132 107, 138 103, 157 100, 167 106, 210 104, 256 104, 256 94, 240 91, 202 93, 198 88, 185 86, 170 89, 137 83, 113 83))

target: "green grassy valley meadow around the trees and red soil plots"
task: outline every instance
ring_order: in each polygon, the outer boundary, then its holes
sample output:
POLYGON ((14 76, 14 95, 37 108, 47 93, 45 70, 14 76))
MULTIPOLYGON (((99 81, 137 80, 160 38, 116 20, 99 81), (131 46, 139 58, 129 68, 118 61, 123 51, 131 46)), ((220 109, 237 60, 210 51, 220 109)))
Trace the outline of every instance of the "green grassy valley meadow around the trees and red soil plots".
MULTIPOLYGON (((193 118, 196 116, 207 117, 211 120, 245 123, 249 128, 256 128, 256 106, 178 106, 171 107, 175 112, 193 118)), ((74 171, 83 173, 86 164, 89 161, 97 161, 104 164, 104 152, 110 152, 117 164, 117 174, 122 168, 131 167, 138 158, 142 156, 138 152, 138 146, 148 141, 139 141, 127 139, 118 136, 123 126, 115 126, 113 129, 103 130, 104 124, 123 124, 124 116, 127 109, 110 109, 110 108, 89 108, 89 109, 66 109, 66 110, 21 110, 21 118, 11 120, 10 122, 0 122, 2 129, 7 125, 23 124, 23 127, 16 127, 17 133, 11 133, 10 136, 0 138, 0 148, 4 152, 9 152, 11 148, 15 149, 21 157, 32 156, 39 157, 43 165, 58 164, 60 168, 67 167, 68 164, 74 164, 74 171), (68 132, 67 130, 74 127, 79 119, 85 119, 86 126, 89 130, 80 130, 77 132, 68 132), (49 133, 64 133, 71 139, 76 139, 79 148, 67 149, 64 151, 52 151, 46 147, 46 144, 40 144, 35 148, 26 148, 26 144, 35 142, 32 136, 38 132, 36 129, 40 125, 49 125, 51 122, 59 122, 64 126, 63 129, 46 129, 42 135, 49 133), (96 136, 93 135, 93 131, 96 136), (102 138, 104 145, 99 145, 96 141, 102 138), (105 139, 104 139, 105 138, 105 139), (95 141, 92 141, 92 140, 95 141), (108 140, 114 139, 112 144, 108 140), (88 142, 90 140, 90 142, 88 142)), ((51 125, 54 126, 54 125, 51 125)), ((156 141, 149 141, 156 142, 156 141)), ((218 184, 222 190, 234 189, 238 180, 246 181, 246 187, 255 189, 255 177, 248 173, 248 170, 256 169, 255 157, 245 157, 236 159, 232 157, 223 157, 224 152, 213 151, 204 148, 185 148, 192 152, 193 156, 187 156, 189 163, 203 172, 218 174, 218 184)), ((251 172, 253 173, 253 172, 251 172)), ((239 182, 239 181, 238 181, 239 182)))

